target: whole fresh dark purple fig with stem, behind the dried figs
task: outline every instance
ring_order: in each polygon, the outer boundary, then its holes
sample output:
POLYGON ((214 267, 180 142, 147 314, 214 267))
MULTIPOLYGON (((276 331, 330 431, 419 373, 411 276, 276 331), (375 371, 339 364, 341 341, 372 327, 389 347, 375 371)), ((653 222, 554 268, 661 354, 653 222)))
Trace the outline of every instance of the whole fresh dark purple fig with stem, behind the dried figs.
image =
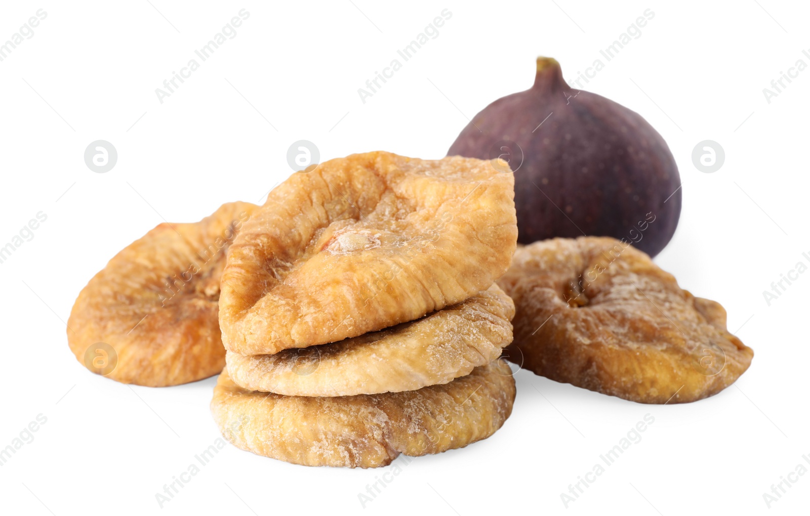
POLYGON ((637 112, 569 87, 552 58, 538 57, 534 85, 475 115, 447 154, 509 161, 518 243, 610 236, 655 256, 678 224, 680 176, 663 137, 637 112))

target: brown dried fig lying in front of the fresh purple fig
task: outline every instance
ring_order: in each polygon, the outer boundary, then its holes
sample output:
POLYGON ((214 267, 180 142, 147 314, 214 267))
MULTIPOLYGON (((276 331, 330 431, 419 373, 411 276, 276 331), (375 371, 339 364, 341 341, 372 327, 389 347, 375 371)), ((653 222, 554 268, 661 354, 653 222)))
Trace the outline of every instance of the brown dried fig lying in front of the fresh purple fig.
POLYGON ((639 403, 701 400, 734 383, 752 349, 719 303, 680 289, 620 240, 550 239, 518 248, 498 284, 515 303, 509 356, 557 382, 639 403))

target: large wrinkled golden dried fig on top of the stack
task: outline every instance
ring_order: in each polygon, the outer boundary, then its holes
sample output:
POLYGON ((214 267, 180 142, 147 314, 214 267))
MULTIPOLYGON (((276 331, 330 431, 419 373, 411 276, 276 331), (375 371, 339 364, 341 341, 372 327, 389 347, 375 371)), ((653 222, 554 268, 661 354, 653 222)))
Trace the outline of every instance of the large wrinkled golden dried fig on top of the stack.
POLYGON ((492 285, 517 242, 514 180, 480 159, 332 159, 267 197, 228 250, 225 347, 272 354, 418 319, 492 285))

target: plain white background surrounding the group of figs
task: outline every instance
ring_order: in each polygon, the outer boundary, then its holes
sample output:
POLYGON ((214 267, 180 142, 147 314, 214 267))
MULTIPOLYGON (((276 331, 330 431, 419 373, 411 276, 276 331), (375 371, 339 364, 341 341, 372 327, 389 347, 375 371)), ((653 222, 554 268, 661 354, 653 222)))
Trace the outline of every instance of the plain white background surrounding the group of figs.
POLYGON ((47 422, 0 467, 0 512, 806 510, 810 475, 770 510, 762 497, 810 455, 810 273, 770 307, 762 294, 810 254, 810 70, 770 104, 762 93, 796 60, 810 65, 801 53, 810 51, 806 4, 225 3, 3 3, 0 41, 37 9, 48 15, 0 62, 0 245, 37 212, 48 219, 0 264, 0 447, 37 414, 47 422), (237 36, 160 104, 156 88, 241 8, 250 15, 237 36), (439 36, 363 104, 357 89, 445 8, 453 15, 439 36), (755 350, 750 370, 708 400, 674 406, 520 371, 514 412, 497 434, 415 459, 364 509, 358 493, 386 470, 301 467, 230 445, 160 509, 155 494, 219 436, 208 408, 215 379, 130 388, 85 370, 67 347, 65 321, 92 275, 164 219, 192 222, 226 201, 262 201, 291 173, 286 153, 296 140, 315 142, 322 160, 368 150, 441 158, 468 117, 531 86, 535 57, 556 57, 569 78, 646 9, 654 19, 642 36, 584 89, 641 113, 668 142, 684 205, 656 262, 727 307, 729 329, 741 327, 755 350), (97 139, 118 151, 105 174, 83 162, 97 139), (706 139, 726 152, 713 174, 691 159, 706 139), (654 424, 642 441, 565 509, 561 493, 647 413, 654 424))

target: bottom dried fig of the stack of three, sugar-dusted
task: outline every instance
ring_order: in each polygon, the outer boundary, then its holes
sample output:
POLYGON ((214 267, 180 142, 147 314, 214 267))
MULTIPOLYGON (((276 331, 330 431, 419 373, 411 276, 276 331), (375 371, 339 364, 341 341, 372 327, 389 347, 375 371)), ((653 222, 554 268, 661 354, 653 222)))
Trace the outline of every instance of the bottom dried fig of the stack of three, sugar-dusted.
POLYGON ((505 362, 418 391, 338 397, 247 391, 220 374, 211 413, 228 441, 305 466, 378 467, 400 453, 440 453, 480 441, 512 412, 505 362))

